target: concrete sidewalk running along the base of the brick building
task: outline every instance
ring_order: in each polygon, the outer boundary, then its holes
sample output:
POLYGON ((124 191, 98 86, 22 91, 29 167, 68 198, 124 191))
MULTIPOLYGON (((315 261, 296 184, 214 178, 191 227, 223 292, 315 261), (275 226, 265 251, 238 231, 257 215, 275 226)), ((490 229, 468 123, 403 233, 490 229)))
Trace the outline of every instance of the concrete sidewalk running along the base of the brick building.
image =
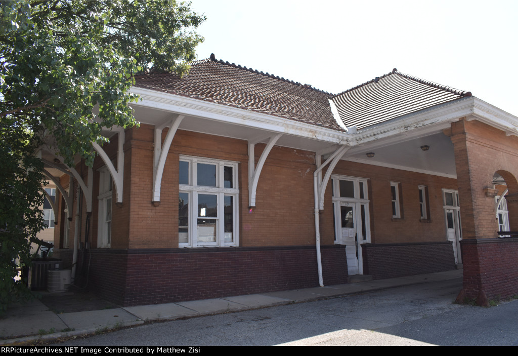
POLYGON ((10 307, 6 315, 0 319, 0 337, 9 338, 0 340, 0 345, 34 344, 38 340, 47 341, 68 336, 101 333, 105 330, 139 325, 147 321, 222 314, 457 278, 462 279, 462 269, 335 286, 63 314, 55 314, 40 301, 33 300, 28 304, 10 307))

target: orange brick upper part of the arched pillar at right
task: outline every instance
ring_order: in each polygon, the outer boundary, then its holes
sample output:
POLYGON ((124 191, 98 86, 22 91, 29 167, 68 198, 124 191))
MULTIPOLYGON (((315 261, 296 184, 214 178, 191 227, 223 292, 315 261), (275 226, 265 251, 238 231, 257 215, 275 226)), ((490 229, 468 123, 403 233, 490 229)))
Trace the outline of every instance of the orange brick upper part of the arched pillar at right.
MULTIPOLYGON (((498 231, 496 204, 484 194, 493 188, 493 175, 499 172, 506 179, 509 194, 518 194, 518 138, 479 121, 461 120, 452 123, 451 136, 461 198, 464 238, 493 238, 498 231)), ((511 230, 518 228, 513 220, 518 213, 509 199, 511 230), (514 208, 514 209, 513 209, 514 208)))

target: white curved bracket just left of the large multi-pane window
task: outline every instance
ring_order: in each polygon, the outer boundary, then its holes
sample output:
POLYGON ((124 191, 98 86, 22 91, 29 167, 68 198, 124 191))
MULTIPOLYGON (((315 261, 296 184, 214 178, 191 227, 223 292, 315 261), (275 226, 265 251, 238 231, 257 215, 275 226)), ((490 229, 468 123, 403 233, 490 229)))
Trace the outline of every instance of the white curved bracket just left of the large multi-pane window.
POLYGON ((184 116, 178 115, 176 119, 171 119, 162 125, 155 126, 155 149, 153 152, 153 199, 155 205, 160 204, 160 190, 162 188, 162 175, 164 174, 165 161, 172 139, 175 137, 178 126, 184 116), (165 135, 164 145, 162 146, 162 130, 169 126, 169 131, 165 135))

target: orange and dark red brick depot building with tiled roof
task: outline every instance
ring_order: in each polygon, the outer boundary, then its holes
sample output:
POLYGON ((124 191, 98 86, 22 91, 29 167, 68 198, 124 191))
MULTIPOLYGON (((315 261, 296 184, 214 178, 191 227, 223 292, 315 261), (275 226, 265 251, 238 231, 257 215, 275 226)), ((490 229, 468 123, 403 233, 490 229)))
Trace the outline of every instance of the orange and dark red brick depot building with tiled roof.
POLYGON ((42 152, 76 284, 131 306, 463 264, 460 298, 518 294, 515 116, 396 69, 335 95, 214 55, 132 91, 140 126, 93 168, 42 152))

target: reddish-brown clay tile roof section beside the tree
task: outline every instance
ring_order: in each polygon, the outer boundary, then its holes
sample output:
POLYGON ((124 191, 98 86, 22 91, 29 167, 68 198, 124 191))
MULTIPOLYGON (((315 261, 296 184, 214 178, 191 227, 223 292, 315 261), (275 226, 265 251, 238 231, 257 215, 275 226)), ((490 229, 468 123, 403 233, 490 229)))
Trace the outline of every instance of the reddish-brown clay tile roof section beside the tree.
POLYGON ((215 59, 190 63, 183 78, 168 73, 135 77, 135 86, 189 96, 344 131, 333 117, 332 94, 272 74, 215 59))

